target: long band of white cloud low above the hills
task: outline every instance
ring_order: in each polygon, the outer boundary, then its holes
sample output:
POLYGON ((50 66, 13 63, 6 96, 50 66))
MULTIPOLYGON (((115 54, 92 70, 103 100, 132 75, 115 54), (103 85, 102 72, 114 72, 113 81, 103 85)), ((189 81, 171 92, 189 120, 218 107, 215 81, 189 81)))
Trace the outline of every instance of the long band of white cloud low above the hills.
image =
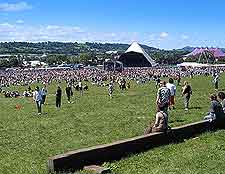
MULTIPOLYGON (((162 36, 165 37, 165 34, 162 34, 162 36)), ((93 32, 85 31, 79 26, 29 26, 28 24, 0 23, 0 42, 9 41, 108 42, 127 44, 131 44, 132 41, 137 41, 140 44, 146 44, 152 47, 168 47, 167 42, 160 39, 158 33, 93 32)), ((171 43, 169 46, 172 47, 171 43)))

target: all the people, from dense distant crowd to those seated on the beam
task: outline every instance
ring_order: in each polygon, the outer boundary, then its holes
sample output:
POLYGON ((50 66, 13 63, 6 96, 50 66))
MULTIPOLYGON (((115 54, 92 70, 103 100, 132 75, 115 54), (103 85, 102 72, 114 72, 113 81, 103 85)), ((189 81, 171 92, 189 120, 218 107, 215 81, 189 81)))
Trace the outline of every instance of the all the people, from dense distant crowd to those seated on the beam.
MULTIPOLYGON (((118 84, 121 90, 125 90, 130 88, 129 81, 131 80, 136 81, 137 84, 155 81, 156 88, 158 89, 156 99, 158 111, 156 113, 155 122, 151 124, 145 132, 150 133, 155 131, 165 131, 168 128, 168 110, 175 109, 176 85, 180 85, 182 78, 193 78, 193 76, 197 75, 212 75, 215 90, 218 90, 219 74, 224 71, 225 68, 213 67, 189 68, 186 70, 173 67, 125 68, 122 72, 108 72, 93 68, 79 70, 16 69, 11 71, 0 71, 0 91, 2 91, 2 88, 10 86, 30 86, 34 83, 44 84, 42 89, 37 86, 33 91, 29 87, 28 90, 25 90, 23 93, 23 96, 25 97, 33 97, 37 105, 38 114, 40 115, 42 113, 42 105, 45 104, 46 96, 48 94, 46 85, 51 83, 59 84, 55 93, 55 106, 56 108, 60 108, 62 102, 62 89, 60 83, 63 82, 67 83, 65 93, 68 103, 71 103, 73 89, 79 91, 81 96, 83 95, 84 90, 88 90, 88 86, 86 84, 83 85, 84 81, 89 81, 92 85, 107 86, 110 99, 113 98, 115 83, 118 84), (169 79, 168 83, 162 81, 161 78, 169 79), (177 81, 176 85, 175 80, 177 81)), ((192 87, 187 81, 183 83, 181 93, 184 101, 184 110, 188 111, 192 87)), ((10 94, 9 96, 14 95, 10 94)), ((216 95, 211 95, 210 112, 205 116, 205 119, 215 119, 216 117, 220 117, 221 112, 224 115, 225 94, 222 92, 218 93, 218 98, 222 100, 222 105, 218 102, 216 95)))

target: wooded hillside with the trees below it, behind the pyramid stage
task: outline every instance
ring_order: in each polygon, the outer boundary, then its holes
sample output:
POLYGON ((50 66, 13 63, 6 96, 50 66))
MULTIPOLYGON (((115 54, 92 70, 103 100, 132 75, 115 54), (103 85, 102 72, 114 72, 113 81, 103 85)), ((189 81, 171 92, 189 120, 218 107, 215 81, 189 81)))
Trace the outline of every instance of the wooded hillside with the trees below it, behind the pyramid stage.
MULTIPOLYGON (((141 45, 142 48, 160 64, 177 64, 183 61, 183 56, 189 51, 180 50, 160 50, 157 48, 141 45)), ((10 54, 7 59, 0 58, 0 67, 21 66, 23 60, 38 60, 49 65, 59 65, 62 63, 91 64, 96 65, 99 60, 110 59, 121 55, 128 49, 128 44, 116 43, 62 43, 62 42, 2 42, 0 43, 0 54, 10 54), (106 54, 107 51, 117 51, 116 55, 106 54), (39 55, 32 57, 29 55, 39 55), (42 54, 47 56, 42 57, 42 54)), ((101 62, 101 61, 100 61, 101 62)))

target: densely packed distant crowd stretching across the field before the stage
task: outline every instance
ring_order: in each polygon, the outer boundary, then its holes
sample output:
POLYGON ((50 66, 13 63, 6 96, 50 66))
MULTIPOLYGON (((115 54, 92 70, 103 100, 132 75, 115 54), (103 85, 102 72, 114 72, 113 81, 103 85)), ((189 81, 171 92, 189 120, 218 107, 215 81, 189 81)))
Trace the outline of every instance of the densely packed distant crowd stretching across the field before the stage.
MULTIPOLYGON (((210 75, 224 72, 225 68, 189 68, 182 71, 179 68, 152 67, 152 68, 125 68, 122 72, 104 71, 101 69, 11 69, 0 70, 1 86, 27 86, 33 83, 51 84, 52 82, 74 83, 90 81, 92 84, 103 85, 107 80, 135 80, 145 83, 150 80, 159 82, 161 77, 172 77, 180 80, 183 77, 195 75, 210 75), (215 73, 216 72, 216 73, 215 73)), ((216 77, 216 76, 215 76, 216 77)))

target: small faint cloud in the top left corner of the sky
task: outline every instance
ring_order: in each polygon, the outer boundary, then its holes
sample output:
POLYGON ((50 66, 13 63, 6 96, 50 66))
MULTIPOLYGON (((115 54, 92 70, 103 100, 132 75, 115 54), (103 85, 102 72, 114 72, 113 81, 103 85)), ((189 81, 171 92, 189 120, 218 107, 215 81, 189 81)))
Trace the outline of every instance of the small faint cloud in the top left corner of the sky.
POLYGON ((26 2, 17 2, 17 3, 0 3, 0 11, 12 12, 12 11, 24 11, 30 10, 32 6, 26 2))

